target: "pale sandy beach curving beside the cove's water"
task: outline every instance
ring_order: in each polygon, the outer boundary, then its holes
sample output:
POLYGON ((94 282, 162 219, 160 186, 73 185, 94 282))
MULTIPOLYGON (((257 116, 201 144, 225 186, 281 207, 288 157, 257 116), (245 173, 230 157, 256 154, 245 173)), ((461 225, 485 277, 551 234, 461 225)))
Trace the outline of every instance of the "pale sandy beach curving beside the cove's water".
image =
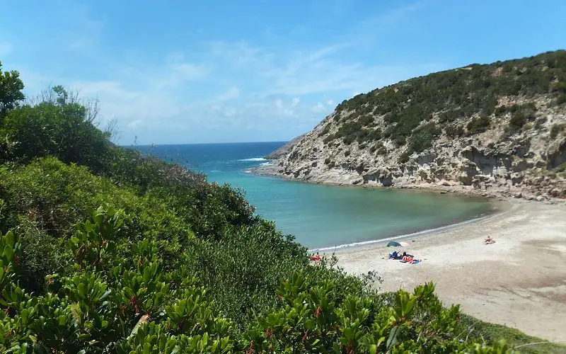
POLYGON ((337 250, 338 265, 358 275, 376 270, 382 291, 412 290, 432 280, 445 304, 566 341, 566 206, 509 203, 499 215, 405 240, 404 250, 421 258, 419 264, 388 260, 394 249, 373 244, 337 250), (483 243, 488 235, 495 244, 483 243))

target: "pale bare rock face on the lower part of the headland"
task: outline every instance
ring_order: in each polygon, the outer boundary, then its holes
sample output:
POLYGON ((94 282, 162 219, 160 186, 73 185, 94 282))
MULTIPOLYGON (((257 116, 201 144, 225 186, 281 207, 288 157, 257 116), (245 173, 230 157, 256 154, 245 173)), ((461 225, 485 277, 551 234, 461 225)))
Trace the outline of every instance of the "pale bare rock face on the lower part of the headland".
MULTIPOLYGON (((566 104, 555 105, 552 100, 549 96, 499 98, 497 106, 535 105, 533 124, 509 135, 502 127, 511 117, 494 115, 485 132, 449 137, 443 131, 432 147, 405 161, 401 158, 404 148, 395 147, 385 137, 379 140, 381 149, 356 141, 346 144, 341 139, 325 142, 324 138, 335 132, 330 122, 337 115, 347 118, 349 114, 335 111, 311 132, 270 154, 275 163, 257 172, 313 183, 432 188, 545 200, 532 197, 538 191, 549 198, 566 198, 566 132, 550 135, 553 126, 566 126, 566 104)), ((473 117, 466 118, 463 125, 473 117)), ((383 117, 374 119, 386 129, 383 117)))

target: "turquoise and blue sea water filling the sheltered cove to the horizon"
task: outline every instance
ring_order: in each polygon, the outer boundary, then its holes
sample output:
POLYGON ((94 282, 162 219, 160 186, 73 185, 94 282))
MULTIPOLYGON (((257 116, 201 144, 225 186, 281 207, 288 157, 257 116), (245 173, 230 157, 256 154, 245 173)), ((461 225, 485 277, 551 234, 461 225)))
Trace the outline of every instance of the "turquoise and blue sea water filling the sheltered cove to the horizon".
POLYGON ((138 147, 242 188, 256 212, 309 248, 384 239, 485 215, 478 198, 411 190, 336 187, 254 176, 249 169, 284 142, 138 147))

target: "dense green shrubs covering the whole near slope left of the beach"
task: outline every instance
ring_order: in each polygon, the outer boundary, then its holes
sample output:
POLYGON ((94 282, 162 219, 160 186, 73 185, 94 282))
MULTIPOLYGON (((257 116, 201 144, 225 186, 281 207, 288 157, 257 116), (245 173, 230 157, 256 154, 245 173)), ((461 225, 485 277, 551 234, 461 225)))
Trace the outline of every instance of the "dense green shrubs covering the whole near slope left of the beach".
POLYGON ((310 265, 240 191, 111 144, 60 86, 33 105, 22 88, 0 75, 3 352, 503 353, 500 338, 533 340, 482 331, 432 284, 378 295, 333 258, 310 265))

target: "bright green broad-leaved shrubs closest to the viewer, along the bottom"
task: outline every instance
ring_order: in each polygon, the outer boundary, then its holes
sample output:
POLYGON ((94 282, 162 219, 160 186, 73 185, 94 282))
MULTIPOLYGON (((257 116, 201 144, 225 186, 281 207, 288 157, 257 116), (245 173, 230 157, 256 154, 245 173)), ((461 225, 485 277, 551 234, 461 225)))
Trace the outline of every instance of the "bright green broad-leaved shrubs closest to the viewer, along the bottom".
POLYGON ((91 210, 64 240, 71 269, 47 275, 45 291, 17 283, 21 240, 1 237, 0 343, 12 353, 501 353, 458 340, 458 307, 445 309, 434 285, 399 291, 393 302, 352 294, 327 277, 299 271, 282 282, 275 306, 238 330, 197 280, 175 279, 144 239, 120 256, 127 215, 91 210), (318 278, 318 277, 316 277, 318 278))

